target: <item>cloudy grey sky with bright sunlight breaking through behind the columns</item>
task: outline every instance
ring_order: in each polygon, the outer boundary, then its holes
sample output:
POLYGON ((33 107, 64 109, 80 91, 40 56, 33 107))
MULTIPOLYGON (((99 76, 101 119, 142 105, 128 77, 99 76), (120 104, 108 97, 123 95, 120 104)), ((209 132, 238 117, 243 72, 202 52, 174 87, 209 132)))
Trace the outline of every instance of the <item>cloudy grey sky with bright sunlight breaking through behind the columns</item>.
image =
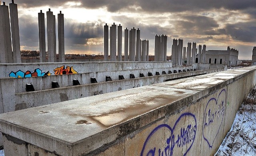
MULTIPOLYGON (((11 0, 6 0, 9 4, 11 0)), ((65 53, 103 53, 103 26, 114 22, 123 30, 141 30, 154 54, 154 36, 206 44, 206 50, 239 50, 239 59, 252 57, 256 46, 256 0, 15 0, 18 4, 22 49, 38 50, 38 12, 62 11, 65 53)), ((2 2, 1 2, 2 5, 2 2)), ((57 20, 56 20, 57 21, 57 20)), ((124 34, 124 32, 123 32, 124 34)), ((123 35, 124 36, 124 35, 123 35)), ((58 37, 57 37, 58 38, 58 37)), ((124 39, 123 39, 124 40, 124 39)), ((124 47, 124 45, 123 45, 124 47)), ((57 48, 58 49, 58 48, 57 48)), ((124 48, 123 50, 124 51, 124 48)))

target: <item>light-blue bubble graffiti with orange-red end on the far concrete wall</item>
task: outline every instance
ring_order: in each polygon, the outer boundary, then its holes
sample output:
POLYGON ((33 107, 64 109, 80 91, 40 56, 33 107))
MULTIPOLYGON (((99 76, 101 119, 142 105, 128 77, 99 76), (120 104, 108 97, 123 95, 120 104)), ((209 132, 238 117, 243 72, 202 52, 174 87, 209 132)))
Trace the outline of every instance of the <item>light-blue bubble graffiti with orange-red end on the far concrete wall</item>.
POLYGON ((30 77, 38 77, 38 76, 50 76, 52 73, 48 72, 42 72, 41 69, 37 68, 34 70, 34 72, 30 72, 29 70, 26 72, 22 72, 21 70, 18 70, 17 72, 10 72, 9 76, 12 78, 30 78, 30 77))

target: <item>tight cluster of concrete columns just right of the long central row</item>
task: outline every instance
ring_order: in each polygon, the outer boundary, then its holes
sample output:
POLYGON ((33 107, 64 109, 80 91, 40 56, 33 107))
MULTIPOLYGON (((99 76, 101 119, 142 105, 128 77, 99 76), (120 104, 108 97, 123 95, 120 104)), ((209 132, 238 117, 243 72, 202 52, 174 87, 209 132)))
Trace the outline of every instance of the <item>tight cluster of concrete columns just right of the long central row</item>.
POLYGON ((167 36, 155 36, 155 53, 154 61, 166 61, 167 54, 167 36))

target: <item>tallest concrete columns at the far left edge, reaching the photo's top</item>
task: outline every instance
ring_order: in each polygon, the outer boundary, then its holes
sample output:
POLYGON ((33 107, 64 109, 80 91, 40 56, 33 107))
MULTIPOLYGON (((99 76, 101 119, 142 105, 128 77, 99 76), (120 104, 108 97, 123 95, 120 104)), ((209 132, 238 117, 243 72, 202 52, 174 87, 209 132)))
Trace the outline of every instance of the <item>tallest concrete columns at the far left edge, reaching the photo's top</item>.
POLYGON ((0 4, 0 63, 21 63, 18 8, 14 0, 9 7, 5 2, 0 4))

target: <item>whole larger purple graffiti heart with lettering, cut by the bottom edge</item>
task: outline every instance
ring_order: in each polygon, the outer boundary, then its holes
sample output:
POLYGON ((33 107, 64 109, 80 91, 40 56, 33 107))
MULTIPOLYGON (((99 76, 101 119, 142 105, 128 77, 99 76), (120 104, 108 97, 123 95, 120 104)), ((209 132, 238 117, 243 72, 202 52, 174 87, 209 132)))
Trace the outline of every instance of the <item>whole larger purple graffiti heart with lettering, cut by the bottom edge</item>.
POLYGON ((185 156, 194 143, 196 130, 196 116, 184 113, 176 120, 173 128, 168 124, 154 128, 144 142, 140 156, 172 156, 174 151, 182 153, 182 148, 186 148, 185 156))

